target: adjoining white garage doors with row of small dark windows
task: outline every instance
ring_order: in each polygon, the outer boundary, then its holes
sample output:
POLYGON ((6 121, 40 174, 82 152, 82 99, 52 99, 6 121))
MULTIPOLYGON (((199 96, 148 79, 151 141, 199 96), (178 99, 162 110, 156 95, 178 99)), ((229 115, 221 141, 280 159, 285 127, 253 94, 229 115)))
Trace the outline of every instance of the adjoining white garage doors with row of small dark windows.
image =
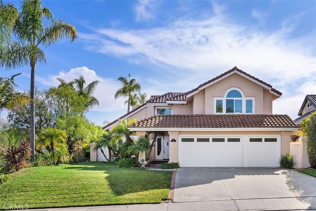
POLYGON ((182 167, 278 167, 279 136, 180 136, 182 167))

